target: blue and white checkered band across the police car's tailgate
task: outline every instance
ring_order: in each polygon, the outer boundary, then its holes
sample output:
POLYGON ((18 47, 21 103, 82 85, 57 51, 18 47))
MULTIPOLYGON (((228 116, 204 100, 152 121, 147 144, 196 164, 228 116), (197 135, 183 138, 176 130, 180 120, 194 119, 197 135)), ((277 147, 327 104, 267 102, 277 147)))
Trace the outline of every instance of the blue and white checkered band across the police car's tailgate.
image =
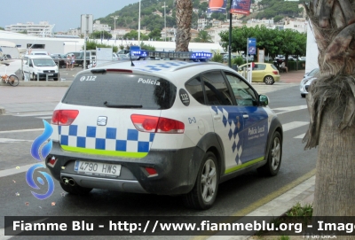
POLYGON ((149 152, 154 133, 98 126, 59 126, 60 144, 95 150, 149 152))

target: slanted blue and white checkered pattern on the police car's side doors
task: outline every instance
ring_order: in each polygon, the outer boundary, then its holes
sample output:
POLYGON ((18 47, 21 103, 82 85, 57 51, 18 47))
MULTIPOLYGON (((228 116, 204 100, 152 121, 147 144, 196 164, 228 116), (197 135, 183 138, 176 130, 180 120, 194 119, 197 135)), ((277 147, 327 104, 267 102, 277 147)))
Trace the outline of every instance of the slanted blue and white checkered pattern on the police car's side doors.
POLYGON ((235 154, 235 162, 237 164, 241 164, 241 154, 243 153, 243 149, 240 142, 240 135, 238 134, 239 128, 238 125, 241 124, 239 118, 230 117, 229 112, 221 106, 212 106, 212 110, 217 114, 222 114, 222 123, 225 128, 229 128, 228 138, 232 144, 232 151, 235 154))

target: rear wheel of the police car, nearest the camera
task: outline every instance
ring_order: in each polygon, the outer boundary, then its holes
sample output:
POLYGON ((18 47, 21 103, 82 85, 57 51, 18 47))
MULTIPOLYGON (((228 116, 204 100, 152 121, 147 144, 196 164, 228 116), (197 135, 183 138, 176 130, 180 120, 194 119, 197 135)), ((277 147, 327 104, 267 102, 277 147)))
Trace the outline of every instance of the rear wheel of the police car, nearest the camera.
POLYGON ((219 182, 218 168, 215 154, 207 152, 201 162, 193 190, 183 196, 185 206, 205 210, 214 204, 219 182))

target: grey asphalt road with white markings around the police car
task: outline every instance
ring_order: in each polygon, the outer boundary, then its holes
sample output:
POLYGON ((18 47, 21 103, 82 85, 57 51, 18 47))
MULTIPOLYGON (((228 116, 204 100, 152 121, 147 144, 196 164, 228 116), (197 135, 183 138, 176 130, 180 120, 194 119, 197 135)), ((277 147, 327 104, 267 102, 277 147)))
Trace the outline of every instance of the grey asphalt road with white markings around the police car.
MULTIPOLYGON (((258 87, 261 91, 264 85, 258 87)), ((180 197, 121 193, 109 190, 92 190, 87 197, 65 194, 55 181, 51 197, 38 200, 32 196, 25 173, 0 177, 2 216, 232 216, 245 215, 263 205, 265 199, 279 196, 294 186, 296 181, 316 166, 316 150, 304 151, 302 136, 308 127, 309 115, 305 100, 298 87, 280 89, 267 94, 270 107, 279 112, 284 126, 283 155, 280 172, 271 178, 254 172, 243 174, 220 184, 216 204, 207 211, 186 209, 180 197), (54 203, 54 205, 52 205, 54 203)), ((43 128, 36 116, 0 116, 0 170, 35 164, 29 153, 32 141, 42 130, 4 132, 12 129, 43 128), (1 132, 2 131, 2 132, 1 132), (7 140, 6 140, 7 139, 7 140), (12 139, 12 140, 8 140, 12 139), (7 141, 7 142, 6 142, 7 141)), ((19 169, 20 170, 20 169, 19 169)), ((46 189, 44 187, 44 189, 46 189)), ((0 219, 4 228, 4 218, 0 219)), ((145 236, 120 236, 120 239, 146 239, 145 236)), ((166 239, 162 236, 149 236, 166 239)), ((169 239, 191 239, 192 236, 169 236, 169 239)), ((0 239, 1 235, 0 235, 0 239)), ((8 239, 5 236, 4 239, 8 239)), ((13 237, 12 239, 17 239, 13 237)), ((20 239, 49 239, 48 236, 21 236, 20 239)), ((56 236, 54 239, 117 239, 116 236, 56 236)))

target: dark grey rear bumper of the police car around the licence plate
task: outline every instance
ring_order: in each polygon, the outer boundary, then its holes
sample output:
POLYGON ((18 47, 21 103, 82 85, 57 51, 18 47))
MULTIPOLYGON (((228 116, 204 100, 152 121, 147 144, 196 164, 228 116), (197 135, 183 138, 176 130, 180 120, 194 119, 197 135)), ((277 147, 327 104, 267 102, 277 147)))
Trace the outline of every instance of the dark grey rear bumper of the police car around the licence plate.
POLYGON ((201 150, 198 147, 151 150, 145 158, 132 159, 64 151, 58 142, 53 142, 45 163, 52 176, 60 182, 63 182, 63 178, 70 178, 75 184, 86 188, 177 195, 193 189, 198 171, 192 163, 194 154, 201 154, 201 150), (49 164, 52 157, 57 159, 54 166, 49 164), (116 177, 77 173, 76 160, 121 165, 121 174, 116 177), (153 167, 157 174, 147 174, 145 167, 153 167))

